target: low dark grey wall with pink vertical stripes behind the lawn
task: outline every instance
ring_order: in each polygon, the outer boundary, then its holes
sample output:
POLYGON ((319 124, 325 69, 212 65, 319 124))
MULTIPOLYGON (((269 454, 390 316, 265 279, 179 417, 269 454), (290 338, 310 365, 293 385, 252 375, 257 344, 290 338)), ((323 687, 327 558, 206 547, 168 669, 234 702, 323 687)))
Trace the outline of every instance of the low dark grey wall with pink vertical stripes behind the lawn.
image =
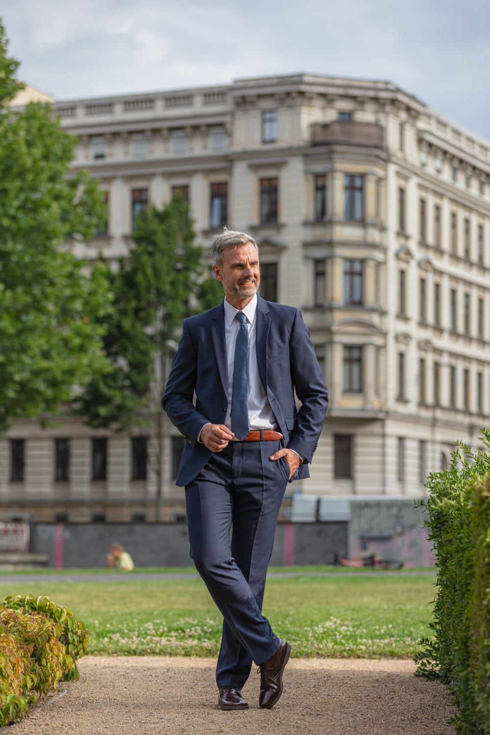
MULTIPOLYGON (((31 551, 48 554, 50 567, 105 567, 113 542, 121 543, 137 567, 192 564, 185 523, 37 523, 31 551)), ((280 523, 271 564, 333 564, 347 555, 347 523, 280 523)))

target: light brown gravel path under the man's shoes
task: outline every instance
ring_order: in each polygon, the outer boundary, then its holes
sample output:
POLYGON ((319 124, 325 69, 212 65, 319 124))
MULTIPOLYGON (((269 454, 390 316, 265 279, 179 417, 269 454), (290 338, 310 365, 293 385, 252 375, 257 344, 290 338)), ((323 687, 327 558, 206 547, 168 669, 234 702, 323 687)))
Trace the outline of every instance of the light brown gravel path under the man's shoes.
POLYGON ((447 690, 414 676, 405 659, 291 659, 284 694, 259 709, 259 675, 243 689, 248 711, 217 708, 213 659, 85 656, 81 678, 48 699, 12 735, 446 735, 447 690))

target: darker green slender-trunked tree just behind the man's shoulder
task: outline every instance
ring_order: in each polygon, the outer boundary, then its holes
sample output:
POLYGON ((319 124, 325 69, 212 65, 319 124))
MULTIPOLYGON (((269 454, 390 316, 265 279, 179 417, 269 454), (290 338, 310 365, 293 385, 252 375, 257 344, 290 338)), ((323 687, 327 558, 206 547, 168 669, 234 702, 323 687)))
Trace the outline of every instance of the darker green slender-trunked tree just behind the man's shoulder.
POLYGON ((134 247, 111 275, 114 311, 103 319, 111 370, 81 395, 77 411, 91 426, 151 431, 155 453, 156 520, 162 520, 163 448, 169 423, 162 411, 181 321, 215 306, 223 291, 203 278, 202 248, 194 244, 189 207, 176 196, 163 209, 148 207, 137 221, 134 247))

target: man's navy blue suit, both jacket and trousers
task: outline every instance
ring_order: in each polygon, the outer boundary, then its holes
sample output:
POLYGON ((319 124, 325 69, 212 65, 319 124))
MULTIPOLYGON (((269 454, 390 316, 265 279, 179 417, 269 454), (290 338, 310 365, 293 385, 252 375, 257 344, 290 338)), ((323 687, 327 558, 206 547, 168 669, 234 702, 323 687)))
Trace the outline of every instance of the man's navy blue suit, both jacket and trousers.
POLYGON ((292 479, 308 477, 328 406, 299 309, 257 299, 256 357, 284 442, 229 442, 217 453, 198 442, 204 424, 223 423, 228 407, 223 303, 184 320, 162 398, 187 439, 176 484, 186 487, 191 556, 224 618, 217 684, 237 688, 245 684, 252 659, 263 664, 278 648, 261 610, 289 465, 269 457, 283 445, 294 449, 305 459, 292 479))

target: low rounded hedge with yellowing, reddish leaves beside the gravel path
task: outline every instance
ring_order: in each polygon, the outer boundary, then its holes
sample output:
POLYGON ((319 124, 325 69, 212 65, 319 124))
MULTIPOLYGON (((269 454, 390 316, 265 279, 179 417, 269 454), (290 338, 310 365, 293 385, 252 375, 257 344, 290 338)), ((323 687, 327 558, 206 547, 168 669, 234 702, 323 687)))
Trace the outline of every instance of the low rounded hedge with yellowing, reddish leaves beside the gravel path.
POLYGON ((60 680, 79 678, 87 628, 46 597, 15 595, 0 603, 0 725, 20 720, 60 680))

